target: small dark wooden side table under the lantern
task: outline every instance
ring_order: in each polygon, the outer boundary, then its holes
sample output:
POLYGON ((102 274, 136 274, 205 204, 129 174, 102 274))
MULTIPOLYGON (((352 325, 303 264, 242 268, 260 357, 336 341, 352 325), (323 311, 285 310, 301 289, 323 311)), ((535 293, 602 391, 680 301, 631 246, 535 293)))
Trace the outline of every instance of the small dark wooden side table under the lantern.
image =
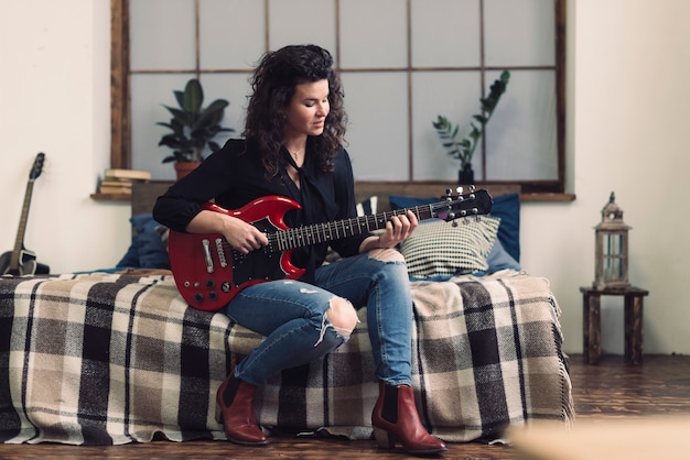
POLYGON ((596 364, 602 357, 601 347, 601 297, 624 296, 625 361, 629 364, 643 363, 643 303, 648 291, 630 286, 625 288, 596 289, 580 287, 582 293, 582 318, 584 329, 583 359, 587 364, 596 364))

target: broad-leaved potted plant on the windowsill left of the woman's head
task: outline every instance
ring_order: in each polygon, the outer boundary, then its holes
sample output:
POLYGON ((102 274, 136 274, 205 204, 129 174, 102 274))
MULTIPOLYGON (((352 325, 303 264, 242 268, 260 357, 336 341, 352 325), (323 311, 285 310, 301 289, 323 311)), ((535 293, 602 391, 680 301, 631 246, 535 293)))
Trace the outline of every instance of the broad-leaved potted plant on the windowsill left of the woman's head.
POLYGON ((204 160, 206 145, 212 152, 220 149, 213 139, 220 132, 234 132, 231 128, 220 127, 225 108, 229 102, 216 99, 203 108, 204 90, 196 78, 192 78, 184 87, 184 91, 174 90, 179 108, 163 106, 172 114, 170 122, 158 122, 172 132, 163 135, 159 146, 165 145, 173 150, 172 154, 163 158, 163 163, 175 162, 177 178, 186 175, 204 160))

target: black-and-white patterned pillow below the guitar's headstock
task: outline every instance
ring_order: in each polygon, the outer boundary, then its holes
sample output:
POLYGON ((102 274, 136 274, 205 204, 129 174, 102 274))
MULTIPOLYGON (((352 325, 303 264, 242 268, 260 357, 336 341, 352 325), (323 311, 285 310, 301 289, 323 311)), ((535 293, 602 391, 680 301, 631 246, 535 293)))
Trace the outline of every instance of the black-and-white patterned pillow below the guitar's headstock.
POLYGON ((486 256, 496 241, 500 219, 483 216, 453 222, 434 220, 417 227, 400 243, 413 278, 436 278, 486 271, 486 256))

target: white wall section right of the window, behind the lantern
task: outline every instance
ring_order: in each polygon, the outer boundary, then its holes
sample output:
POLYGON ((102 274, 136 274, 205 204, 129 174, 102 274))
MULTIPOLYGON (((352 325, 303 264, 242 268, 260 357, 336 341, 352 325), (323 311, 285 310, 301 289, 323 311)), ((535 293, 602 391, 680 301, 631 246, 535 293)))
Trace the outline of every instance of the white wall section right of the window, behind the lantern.
MULTIPOLYGON (((594 278, 594 230, 612 190, 630 230, 630 282, 649 289, 644 349, 690 352, 690 2, 569 1, 572 204, 528 204, 522 263, 550 278, 565 350, 582 351, 579 286, 594 278)), ((623 353, 623 300, 604 297, 602 348, 623 353)))

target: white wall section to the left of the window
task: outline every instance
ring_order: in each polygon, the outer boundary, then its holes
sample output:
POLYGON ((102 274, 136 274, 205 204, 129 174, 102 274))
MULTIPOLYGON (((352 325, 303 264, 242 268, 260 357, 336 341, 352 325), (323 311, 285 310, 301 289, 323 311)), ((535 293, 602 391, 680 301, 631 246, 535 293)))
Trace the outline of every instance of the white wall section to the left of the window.
POLYGON ((127 204, 89 198, 109 164, 109 43, 108 1, 0 0, 0 251, 45 152, 24 242, 54 273, 112 266, 128 247, 127 204))

